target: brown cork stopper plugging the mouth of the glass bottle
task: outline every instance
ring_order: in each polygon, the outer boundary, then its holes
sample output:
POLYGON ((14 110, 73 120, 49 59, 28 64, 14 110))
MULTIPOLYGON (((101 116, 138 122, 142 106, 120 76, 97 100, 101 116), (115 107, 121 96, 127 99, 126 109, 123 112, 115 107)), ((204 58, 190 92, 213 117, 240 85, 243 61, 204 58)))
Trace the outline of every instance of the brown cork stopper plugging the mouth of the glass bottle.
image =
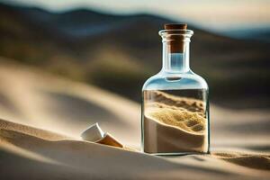
POLYGON ((167 45, 170 53, 183 53, 184 52, 184 36, 175 35, 179 30, 186 30, 186 23, 167 23, 164 25, 165 30, 170 30, 167 33, 172 35, 168 36, 167 45), (175 31, 173 31, 175 30, 175 31))

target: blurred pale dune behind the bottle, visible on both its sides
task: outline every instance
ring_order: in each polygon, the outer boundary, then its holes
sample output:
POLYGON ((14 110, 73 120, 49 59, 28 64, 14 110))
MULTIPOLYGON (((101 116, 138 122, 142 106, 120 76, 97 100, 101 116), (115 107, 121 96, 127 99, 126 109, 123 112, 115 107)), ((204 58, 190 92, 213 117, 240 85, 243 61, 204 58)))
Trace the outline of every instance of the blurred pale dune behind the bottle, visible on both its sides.
MULTIPOLYGON (((18 66, 10 59, 0 58, 0 64, 0 117, 75 138, 98 121, 123 143, 139 148, 138 103, 93 85, 18 66)), ((229 110, 211 104, 213 148, 232 145, 270 151, 269 131, 268 110, 229 110)))

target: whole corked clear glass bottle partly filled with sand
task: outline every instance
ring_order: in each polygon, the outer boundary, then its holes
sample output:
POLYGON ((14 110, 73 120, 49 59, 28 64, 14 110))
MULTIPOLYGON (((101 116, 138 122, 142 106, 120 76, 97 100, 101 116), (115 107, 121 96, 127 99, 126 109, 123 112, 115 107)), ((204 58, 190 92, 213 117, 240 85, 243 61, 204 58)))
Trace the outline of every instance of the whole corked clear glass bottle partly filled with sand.
POLYGON ((189 67, 193 31, 166 24, 159 31, 163 67, 142 88, 142 150, 156 155, 208 153, 208 85, 189 67))

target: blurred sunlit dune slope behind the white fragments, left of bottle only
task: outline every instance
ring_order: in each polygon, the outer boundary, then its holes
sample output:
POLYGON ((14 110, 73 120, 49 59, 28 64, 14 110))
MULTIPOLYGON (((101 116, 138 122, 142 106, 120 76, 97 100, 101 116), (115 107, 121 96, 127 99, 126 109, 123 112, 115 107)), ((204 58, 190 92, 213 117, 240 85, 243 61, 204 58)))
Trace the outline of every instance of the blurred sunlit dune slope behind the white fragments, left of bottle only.
POLYGON ((0 67, 0 117, 71 137, 98 121, 124 143, 140 139, 139 104, 12 63, 0 67))

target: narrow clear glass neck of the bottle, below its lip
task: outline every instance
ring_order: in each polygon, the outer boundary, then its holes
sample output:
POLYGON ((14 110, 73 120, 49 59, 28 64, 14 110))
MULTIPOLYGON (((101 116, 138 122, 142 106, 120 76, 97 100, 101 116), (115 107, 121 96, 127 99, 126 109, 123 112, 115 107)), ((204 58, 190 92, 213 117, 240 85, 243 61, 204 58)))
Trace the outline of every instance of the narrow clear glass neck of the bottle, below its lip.
POLYGON ((162 71, 166 73, 185 73, 189 67, 189 41, 183 42, 182 49, 172 49, 167 41, 163 41, 162 71))

